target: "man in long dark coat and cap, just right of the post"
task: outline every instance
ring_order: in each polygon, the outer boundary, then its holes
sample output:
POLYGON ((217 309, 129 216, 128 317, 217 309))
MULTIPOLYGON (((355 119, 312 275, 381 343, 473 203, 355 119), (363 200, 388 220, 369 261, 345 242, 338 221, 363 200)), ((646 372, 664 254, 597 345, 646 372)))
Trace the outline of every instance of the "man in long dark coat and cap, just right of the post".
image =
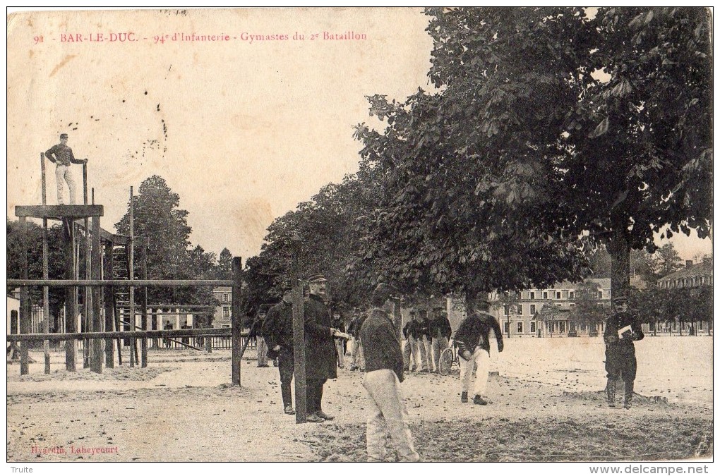
POLYGON ((323 412, 323 385, 337 378, 335 341, 330 311, 323 301, 328 280, 310 276, 310 296, 305 299, 305 369, 307 372, 307 421, 320 423, 335 417, 323 412))

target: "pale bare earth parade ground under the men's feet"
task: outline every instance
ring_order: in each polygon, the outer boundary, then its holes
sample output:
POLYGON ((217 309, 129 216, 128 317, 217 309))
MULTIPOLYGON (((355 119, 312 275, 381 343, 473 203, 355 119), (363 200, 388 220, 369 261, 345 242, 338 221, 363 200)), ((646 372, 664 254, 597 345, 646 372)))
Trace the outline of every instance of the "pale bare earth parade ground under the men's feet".
MULTIPOLYGON (((458 375, 410 373, 402 390, 426 461, 657 461, 710 458, 712 339, 636 343, 633 408, 608 408, 601 339, 507 339, 493 354, 486 407, 459 402, 458 375)), ((248 352, 250 353, 250 352, 248 352)), ((282 413, 279 375, 244 360, 230 383, 229 351, 150 351, 146 369, 68 374, 64 354, 42 373, 7 365, 7 460, 364 461, 361 373, 325 385, 325 424, 282 413)), ((124 360, 125 362, 125 360, 124 360)))

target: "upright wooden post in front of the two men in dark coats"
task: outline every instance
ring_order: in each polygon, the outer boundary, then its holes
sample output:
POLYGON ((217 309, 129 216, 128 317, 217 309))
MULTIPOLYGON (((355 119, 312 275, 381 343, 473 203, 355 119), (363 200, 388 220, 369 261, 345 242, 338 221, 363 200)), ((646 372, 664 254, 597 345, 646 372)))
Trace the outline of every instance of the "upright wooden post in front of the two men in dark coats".
POLYGON ((307 421, 307 382, 305 380, 305 316, 300 281, 300 239, 292 240, 292 340, 295 361, 295 423, 307 421))

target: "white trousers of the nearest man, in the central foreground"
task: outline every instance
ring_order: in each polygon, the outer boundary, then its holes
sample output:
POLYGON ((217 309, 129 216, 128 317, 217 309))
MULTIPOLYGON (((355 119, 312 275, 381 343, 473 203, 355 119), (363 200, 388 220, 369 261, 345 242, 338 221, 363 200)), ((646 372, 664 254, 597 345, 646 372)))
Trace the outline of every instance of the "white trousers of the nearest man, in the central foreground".
POLYGON ((392 438, 400 461, 418 461, 413 435, 408 426, 408 410, 402 402, 400 381, 389 369, 365 374, 363 386, 369 395, 367 411, 367 460, 384 461, 387 436, 392 438))

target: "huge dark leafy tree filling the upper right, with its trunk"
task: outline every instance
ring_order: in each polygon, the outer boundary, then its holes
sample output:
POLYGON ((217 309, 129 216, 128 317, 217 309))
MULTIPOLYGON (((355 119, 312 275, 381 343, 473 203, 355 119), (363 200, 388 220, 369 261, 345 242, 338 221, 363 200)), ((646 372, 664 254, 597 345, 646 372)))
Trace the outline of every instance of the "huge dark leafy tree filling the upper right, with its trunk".
POLYGON ((711 59, 702 9, 428 9, 437 90, 373 96, 357 137, 387 194, 366 255, 426 288, 588 274, 711 226, 711 59), (599 71, 606 75, 599 75, 599 71), (666 228, 667 227, 667 228, 666 228))

